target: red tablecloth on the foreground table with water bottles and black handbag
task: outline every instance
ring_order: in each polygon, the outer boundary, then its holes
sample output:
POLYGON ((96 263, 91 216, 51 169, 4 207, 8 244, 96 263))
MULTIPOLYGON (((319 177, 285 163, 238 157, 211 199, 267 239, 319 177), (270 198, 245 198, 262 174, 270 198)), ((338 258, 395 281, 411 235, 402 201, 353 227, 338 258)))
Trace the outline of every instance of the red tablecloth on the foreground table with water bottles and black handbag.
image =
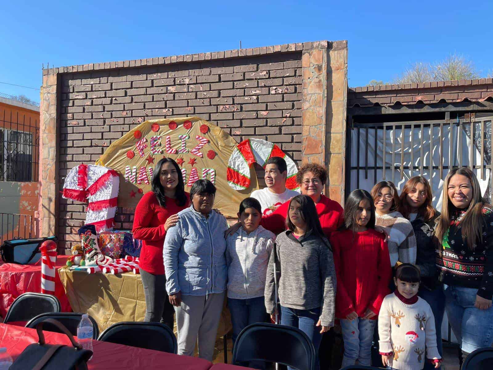
MULTIPOLYGON (((47 343, 71 345, 68 336, 65 334, 44 333, 47 343)), ((37 342, 37 340, 35 329, 0 324, 0 347, 6 347, 7 352, 14 360, 24 348, 31 343, 37 342)), ((178 356, 150 349, 100 342, 99 340, 93 341, 93 350, 94 356, 88 362, 89 370, 208 370, 212 366, 211 362, 195 357, 178 356)))

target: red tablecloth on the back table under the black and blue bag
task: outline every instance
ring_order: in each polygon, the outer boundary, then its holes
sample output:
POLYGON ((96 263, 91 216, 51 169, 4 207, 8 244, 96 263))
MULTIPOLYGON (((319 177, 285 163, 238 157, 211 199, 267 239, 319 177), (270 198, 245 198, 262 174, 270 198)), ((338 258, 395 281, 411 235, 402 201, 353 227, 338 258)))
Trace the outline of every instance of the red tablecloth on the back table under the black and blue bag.
MULTIPOLYGON (((70 256, 58 256, 57 268, 65 266, 70 256)), ((58 276, 55 276, 55 296, 60 300, 63 312, 70 312, 69 300, 58 276)), ((5 317, 15 298, 26 292, 41 293, 41 265, 0 262, 0 316, 5 317)))

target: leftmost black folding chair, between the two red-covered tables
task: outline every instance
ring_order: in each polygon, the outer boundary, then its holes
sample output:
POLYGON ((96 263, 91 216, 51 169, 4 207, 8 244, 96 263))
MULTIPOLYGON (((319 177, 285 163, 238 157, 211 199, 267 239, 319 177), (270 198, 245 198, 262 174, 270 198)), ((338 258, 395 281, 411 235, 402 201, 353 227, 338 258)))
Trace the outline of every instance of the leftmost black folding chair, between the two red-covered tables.
POLYGON ((29 321, 39 314, 60 312, 61 310, 60 301, 56 296, 42 293, 24 293, 12 302, 3 323, 29 321))

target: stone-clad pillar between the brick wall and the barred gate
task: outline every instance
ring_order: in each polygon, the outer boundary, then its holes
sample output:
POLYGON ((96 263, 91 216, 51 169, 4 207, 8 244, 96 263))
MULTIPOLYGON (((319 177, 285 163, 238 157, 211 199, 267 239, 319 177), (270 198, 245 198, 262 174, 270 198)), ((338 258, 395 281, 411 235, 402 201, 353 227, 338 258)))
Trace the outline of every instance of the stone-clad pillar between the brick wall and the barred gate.
POLYGON ((342 204, 348 90, 347 41, 305 42, 302 55, 303 163, 328 170, 325 194, 342 204))

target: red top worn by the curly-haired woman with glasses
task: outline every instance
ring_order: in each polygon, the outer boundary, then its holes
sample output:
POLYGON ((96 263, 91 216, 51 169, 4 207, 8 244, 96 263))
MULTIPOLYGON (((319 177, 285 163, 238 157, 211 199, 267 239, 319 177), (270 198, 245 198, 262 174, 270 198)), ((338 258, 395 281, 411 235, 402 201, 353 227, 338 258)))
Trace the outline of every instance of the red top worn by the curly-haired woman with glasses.
MULTIPOLYGON (((315 205, 318 219, 324 234, 328 237, 331 232, 337 230, 344 221, 344 210, 335 200, 320 196, 320 201, 315 205)), ((274 234, 280 234, 286 229, 286 217, 289 210, 289 200, 269 216, 262 217, 260 224, 274 234)), ((389 262, 390 263, 390 262, 389 262)))

